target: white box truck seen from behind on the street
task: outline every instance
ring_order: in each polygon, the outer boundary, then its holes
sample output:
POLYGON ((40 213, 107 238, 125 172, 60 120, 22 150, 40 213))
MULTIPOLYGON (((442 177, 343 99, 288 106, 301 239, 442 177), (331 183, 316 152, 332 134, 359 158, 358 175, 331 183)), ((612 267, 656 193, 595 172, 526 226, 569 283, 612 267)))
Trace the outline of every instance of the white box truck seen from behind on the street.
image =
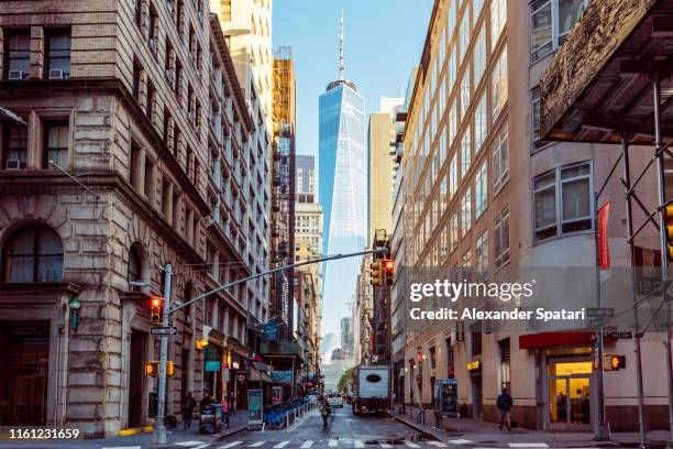
POLYGON ((353 414, 385 412, 390 402, 390 370, 386 365, 353 369, 353 414))

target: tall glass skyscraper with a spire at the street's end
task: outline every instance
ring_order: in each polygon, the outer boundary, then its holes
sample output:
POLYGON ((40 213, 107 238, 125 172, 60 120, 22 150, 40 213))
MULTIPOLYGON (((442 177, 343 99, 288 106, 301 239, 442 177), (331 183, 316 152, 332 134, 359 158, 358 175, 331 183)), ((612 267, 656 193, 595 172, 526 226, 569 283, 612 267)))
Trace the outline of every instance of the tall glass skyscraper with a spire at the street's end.
MULTIPOLYGON (((343 17, 339 79, 330 83, 319 101, 319 184, 323 211, 326 255, 362 251, 367 234, 367 160, 364 98, 343 76, 343 17)), ((340 332, 351 316, 361 258, 330 261, 323 270, 322 332, 340 332)))

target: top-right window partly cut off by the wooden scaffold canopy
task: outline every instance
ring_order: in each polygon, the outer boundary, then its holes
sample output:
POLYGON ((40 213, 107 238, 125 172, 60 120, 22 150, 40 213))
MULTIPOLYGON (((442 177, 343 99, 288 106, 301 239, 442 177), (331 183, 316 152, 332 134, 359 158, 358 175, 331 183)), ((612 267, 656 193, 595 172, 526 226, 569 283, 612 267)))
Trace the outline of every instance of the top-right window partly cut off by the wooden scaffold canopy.
POLYGON ((547 56, 565 41, 589 0, 533 0, 530 3, 530 57, 547 56))

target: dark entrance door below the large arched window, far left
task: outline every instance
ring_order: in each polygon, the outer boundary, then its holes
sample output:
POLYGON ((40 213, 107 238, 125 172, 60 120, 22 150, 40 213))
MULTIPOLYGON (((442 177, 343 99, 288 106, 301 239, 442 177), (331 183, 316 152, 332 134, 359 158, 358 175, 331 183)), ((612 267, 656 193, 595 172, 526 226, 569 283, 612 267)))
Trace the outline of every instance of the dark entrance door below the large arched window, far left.
POLYGON ((48 321, 0 321, 0 425, 46 424, 48 321))

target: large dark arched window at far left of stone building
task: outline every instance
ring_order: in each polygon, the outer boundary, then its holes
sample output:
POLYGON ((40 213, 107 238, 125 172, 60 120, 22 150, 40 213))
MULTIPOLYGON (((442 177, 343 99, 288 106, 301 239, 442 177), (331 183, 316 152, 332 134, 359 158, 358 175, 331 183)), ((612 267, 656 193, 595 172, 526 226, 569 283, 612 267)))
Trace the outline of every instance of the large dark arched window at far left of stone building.
POLYGON ((63 282, 63 243, 44 226, 21 228, 2 251, 3 282, 63 282))

